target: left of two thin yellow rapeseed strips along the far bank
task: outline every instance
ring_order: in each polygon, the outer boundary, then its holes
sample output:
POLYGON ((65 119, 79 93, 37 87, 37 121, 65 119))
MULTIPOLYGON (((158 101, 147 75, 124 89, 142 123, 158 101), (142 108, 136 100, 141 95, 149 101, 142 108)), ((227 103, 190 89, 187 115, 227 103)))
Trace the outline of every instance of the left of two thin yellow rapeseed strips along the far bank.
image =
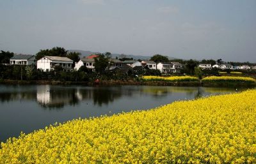
POLYGON ((168 82, 189 82, 198 81, 197 77, 191 76, 173 76, 173 77, 158 77, 158 76, 143 76, 143 80, 146 81, 168 81, 168 82))

